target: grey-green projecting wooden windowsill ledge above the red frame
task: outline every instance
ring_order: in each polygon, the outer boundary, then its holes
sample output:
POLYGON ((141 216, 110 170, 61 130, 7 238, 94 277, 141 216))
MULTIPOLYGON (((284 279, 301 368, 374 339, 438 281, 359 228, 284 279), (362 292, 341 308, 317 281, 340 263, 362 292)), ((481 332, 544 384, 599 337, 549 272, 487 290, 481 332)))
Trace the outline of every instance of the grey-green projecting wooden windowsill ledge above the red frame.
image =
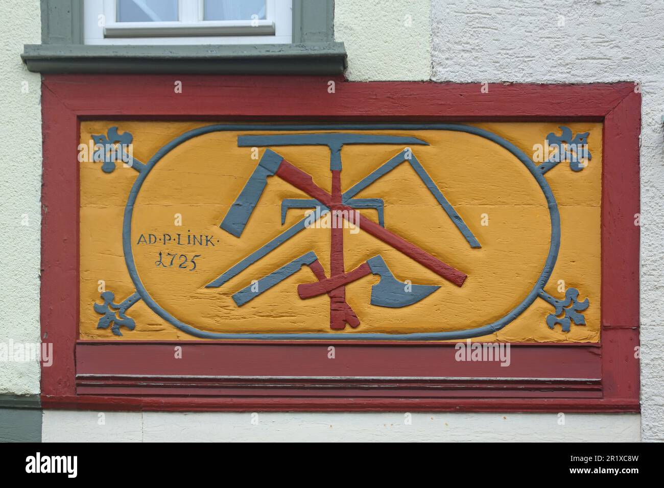
POLYGON ((25 44, 23 62, 42 73, 341 74, 343 42, 226 46, 25 44))

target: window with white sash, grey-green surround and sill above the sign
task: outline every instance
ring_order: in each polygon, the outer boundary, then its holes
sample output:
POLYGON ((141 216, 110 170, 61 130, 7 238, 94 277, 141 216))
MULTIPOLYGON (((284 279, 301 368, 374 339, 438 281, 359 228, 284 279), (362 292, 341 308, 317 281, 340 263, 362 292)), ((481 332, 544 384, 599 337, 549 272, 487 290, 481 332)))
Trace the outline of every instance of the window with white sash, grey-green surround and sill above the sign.
POLYGON ((346 68, 333 0, 41 0, 41 21, 41 44, 25 44, 21 54, 33 72, 337 75, 346 68))

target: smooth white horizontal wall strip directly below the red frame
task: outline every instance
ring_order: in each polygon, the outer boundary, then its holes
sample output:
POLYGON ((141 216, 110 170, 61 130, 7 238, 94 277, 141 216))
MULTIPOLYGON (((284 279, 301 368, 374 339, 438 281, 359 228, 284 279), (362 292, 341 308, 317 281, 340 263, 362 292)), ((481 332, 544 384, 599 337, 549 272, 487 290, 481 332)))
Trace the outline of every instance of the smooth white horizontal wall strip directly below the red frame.
POLYGON ((638 415, 44 412, 44 442, 637 442, 638 415), (253 423, 252 423, 253 421, 253 423))

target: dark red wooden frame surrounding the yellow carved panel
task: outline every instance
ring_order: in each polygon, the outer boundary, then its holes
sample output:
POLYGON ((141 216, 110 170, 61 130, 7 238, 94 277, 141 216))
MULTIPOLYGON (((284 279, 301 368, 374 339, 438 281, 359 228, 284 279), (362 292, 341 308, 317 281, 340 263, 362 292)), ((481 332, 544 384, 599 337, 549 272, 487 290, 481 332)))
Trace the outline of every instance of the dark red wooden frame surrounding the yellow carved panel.
POLYGON ((42 406, 637 412, 641 97, 634 85, 495 84, 482 93, 479 84, 334 81, 330 94, 327 77, 44 76, 41 329, 54 362, 42 366, 42 406), (508 376, 498 363, 455 363, 450 343, 80 341, 76 147, 80 121, 100 118, 603 121, 600 343, 513 345, 508 376), (174 359, 175 344, 183 359, 174 359))

